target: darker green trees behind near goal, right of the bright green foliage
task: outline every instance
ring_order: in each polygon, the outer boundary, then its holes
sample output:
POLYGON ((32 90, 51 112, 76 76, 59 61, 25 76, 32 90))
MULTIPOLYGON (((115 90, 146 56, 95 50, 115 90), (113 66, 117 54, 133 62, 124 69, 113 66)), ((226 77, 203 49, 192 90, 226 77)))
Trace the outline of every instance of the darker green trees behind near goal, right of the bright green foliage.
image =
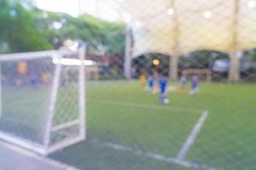
POLYGON ((33 14, 38 29, 49 42, 54 43, 55 38, 63 42, 67 39, 82 40, 87 43, 90 54, 103 51, 105 54, 124 55, 125 34, 124 25, 96 19, 89 14, 74 18, 69 14, 56 14, 48 11, 34 9, 33 14), (61 23, 56 30, 55 22, 61 23))

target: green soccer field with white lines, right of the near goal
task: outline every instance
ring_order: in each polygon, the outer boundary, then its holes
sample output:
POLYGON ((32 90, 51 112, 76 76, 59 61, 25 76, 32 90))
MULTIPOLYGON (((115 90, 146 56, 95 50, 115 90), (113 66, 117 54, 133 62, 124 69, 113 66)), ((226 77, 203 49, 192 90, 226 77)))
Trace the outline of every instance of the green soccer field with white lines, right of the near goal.
MULTIPOLYGON (((60 93, 71 92, 66 88, 60 93)), ((45 94, 31 91, 23 102, 37 93, 45 94)), ((87 139, 50 157, 84 170, 250 169, 256 161, 255 94, 252 84, 204 83, 200 94, 172 92, 170 104, 160 105, 138 82, 88 82, 87 139)), ((77 91, 66 96, 75 100, 77 91)), ((61 102, 56 107, 78 111, 61 102)))

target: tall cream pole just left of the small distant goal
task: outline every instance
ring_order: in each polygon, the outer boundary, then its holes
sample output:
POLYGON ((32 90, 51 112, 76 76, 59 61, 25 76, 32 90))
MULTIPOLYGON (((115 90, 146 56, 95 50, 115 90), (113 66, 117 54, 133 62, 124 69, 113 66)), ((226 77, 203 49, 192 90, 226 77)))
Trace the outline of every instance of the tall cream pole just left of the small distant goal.
POLYGON ((172 81, 177 81, 178 74, 178 38, 179 38, 179 30, 178 30, 178 20, 177 20, 177 10, 175 7, 175 0, 171 0, 171 6, 174 11, 172 15, 173 22, 173 40, 174 46, 172 48, 172 58, 170 58, 170 69, 169 69, 169 77, 172 81))

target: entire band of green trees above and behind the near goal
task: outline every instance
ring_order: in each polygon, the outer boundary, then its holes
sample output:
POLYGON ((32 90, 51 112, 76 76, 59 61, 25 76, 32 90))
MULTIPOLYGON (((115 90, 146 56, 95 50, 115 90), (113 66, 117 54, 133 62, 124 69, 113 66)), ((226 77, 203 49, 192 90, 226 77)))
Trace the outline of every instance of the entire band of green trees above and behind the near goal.
MULTIPOLYGON (((21 2, 22 3, 22 2, 21 2)), ((123 56, 124 26, 84 14, 69 14, 24 8, 16 0, 0 0, 0 52, 37 51, 53 48, 56 40, 82 40, 91 54, 123 56), (61 25, 56 29, 55 24, 61 25), (8 49, 6 45, 8 44, 8 49)))

